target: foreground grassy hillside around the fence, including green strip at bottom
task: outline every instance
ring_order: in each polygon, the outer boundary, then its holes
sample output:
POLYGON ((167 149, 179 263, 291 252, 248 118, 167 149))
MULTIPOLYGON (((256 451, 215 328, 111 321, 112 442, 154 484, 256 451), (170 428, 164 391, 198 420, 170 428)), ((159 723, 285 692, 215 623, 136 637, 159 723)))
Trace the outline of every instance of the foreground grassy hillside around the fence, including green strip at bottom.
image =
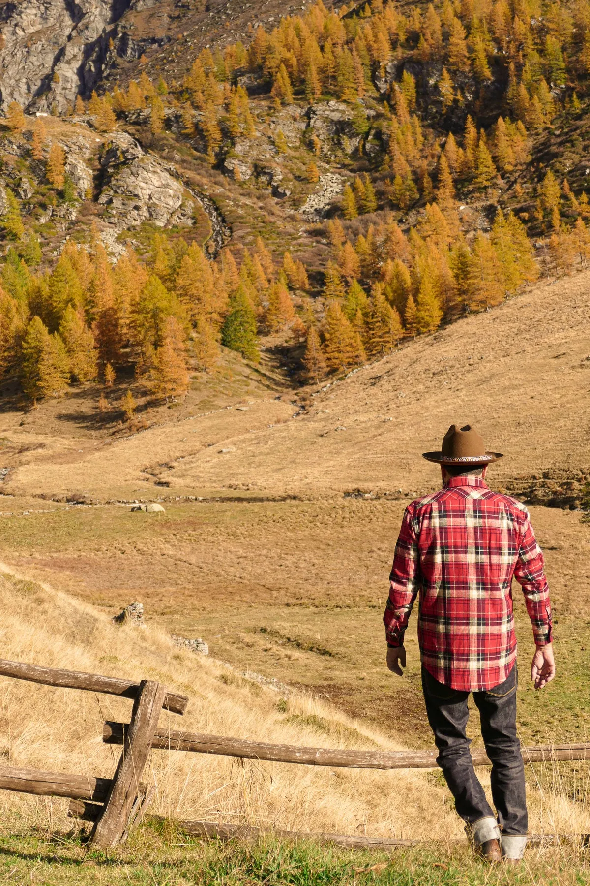
MULTIPOLYGON (((119 628, 96 609, 48 586, 0 580, 4 656, 134 679, 150 677, 190 696, 182 725, 212 734, 341 747, 399 748, 374 728, 331 705, 293 693, 287 698, 244 678, 215 659, 172 646, 165 633, 119 628)), ((129 703, 109 696, 2 680, 3 756, 14 766, 110 775, 117 749, 100 741, 103 719, 125 719, 129 703)), ((163 712, 161 723, 180 723, 163 712)), ((441 843, 430 849, 382 853, 319 851, 313 845, 226 849, 190 840, 149 823, 107 861, 86 854, 78 828, 65 818, 67 801, 4 792, 0 873, 11 882, 297 883, 511 882, 490 873, 452 841, 461 834, 441 777, 435 773, 329 770, 154 751, 146 777, 156 784, 151 811, 172 818, 204 818, 310 832, 327 830, 396 835, 441 843), (448 841, 451 843, 448 843, 448 841), (485 872, 485 873, 484 873, 485 872), (428 877, 429 879, 425 879, 428 877)), ((586 789, 569 796, 544 766, 530 780, 534 832, 579 833, 590 821, 586 789)), ((554 882, 576 881, 584 857, 570 848, 531 851, 526 872, 550 872, 554 882), (577 872, 577 873, 574 873, 577 872)), ((523 882, 516 874, 514 882, 523 882)))

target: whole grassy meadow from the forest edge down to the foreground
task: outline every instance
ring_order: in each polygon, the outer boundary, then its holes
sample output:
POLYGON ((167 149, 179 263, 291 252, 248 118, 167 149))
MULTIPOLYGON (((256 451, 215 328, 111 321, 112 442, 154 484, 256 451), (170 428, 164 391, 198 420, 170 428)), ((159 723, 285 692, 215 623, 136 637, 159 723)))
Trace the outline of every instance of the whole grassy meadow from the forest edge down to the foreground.
MULTIPOLYGON (((491 486, 536 502, 529 507, 547 560, 558 672, 541 693, 528 680, 532 637, 515 588, 522 741, 585 741, 590 526, 575 501, 590 463, 580 369, 590 350, 580 334, 587 279, 559 291, 541 286, 534 298, 467 318, 295 403, 256 387, 248 400, 243 389, 225 390, 209 415, 196 415, 193 400, 145 431, 114 436, 81 421, 59 424, 53 404, 48 431, 43 406, 7 408, 3 657, 155 677, 190 698, 182 723, 163 714, 162 725, 174 728, 325 747, 430 747, 415 618, 402 680, 386 670, 381 618, 402 510, 439 482, 420 452, 461 415, 507 454, 490 471, 491 486), (539 305, 544 319, 521 332, 539 305), (563 333, 548 346, 555 316, 563 333), (505 342, 516 335, 515 356, 505 342), (487 338, 487 365, 468 350, 473 337, 487 338), (452 369, 434 371, 439 364, 452 369), (402 383, 410 375, 411 387, 402 383), (133 513, 135 499, 161 501, 165 513, 133 513), (111 617, 134 600, 144 604, 146 629, 114 626, 111 617), (203 637, 210 656, 179 649, 172 633, 203 637)), ((101 724, 126 719, 129 707, 2 680, 0 751, 10 765, 110 775, 115 751, 101 742, 101 724)), ((472 718, 476 742, 477 727, 472 718)), ((533 833, 590 832, 589 774, 585 763, 527 766, 533 833)), ((65 801, 4 794, 7 881, 590 882, 586 850, 575 843, 532 847, 525 867, 510 872, 472 860, 437 772, 242 766, 154 751, 149 778, 157 785, 150 812, 167 818, 425 842, 391 857, 271 836, 222 845, 146 820, 107 858, 85 850, 65 801)))

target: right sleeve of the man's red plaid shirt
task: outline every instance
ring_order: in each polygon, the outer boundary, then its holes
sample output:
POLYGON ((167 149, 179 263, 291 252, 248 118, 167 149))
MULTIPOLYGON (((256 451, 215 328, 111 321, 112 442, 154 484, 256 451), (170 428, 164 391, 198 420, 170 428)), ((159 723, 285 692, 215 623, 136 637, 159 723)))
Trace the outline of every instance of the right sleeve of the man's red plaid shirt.
POLYGON ((553 642, 551 602, 545 578, 543 552, 534 537, 533 526, 528 514, 518 548, 514 577, 523 588, 526 610, 533 625, 534 641, 537 646, 546 646, 553 642))

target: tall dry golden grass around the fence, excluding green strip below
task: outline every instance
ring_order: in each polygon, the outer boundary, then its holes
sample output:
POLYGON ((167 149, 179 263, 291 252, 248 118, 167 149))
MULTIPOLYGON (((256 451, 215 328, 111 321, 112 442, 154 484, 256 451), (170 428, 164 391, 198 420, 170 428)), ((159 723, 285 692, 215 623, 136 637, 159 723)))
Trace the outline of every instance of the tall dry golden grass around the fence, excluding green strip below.
MULTIPOLYGON (((163 680, 190 696, 188 712, 161 724, 211 734, 295 744, 399 748, 383 734, 331 705, 247 680, 214 659, 176 649, 154 628, 113 626, 100 612, 50 587, 3 575, 4 657, 92 672, 163 680)), ((127 719, 130 703, 71 689, 1 680, 2 754, 14 766, 109 776, 119 750, 103 745, 103 719, 127 719)), ((533 831, 590 829, 586 786, 573 800, 540 768, 530 793, 533 831), (556 789, 557 788, 557 789, 556 789)), ((289 766, 158 752, 147 778, 156 785, 152 811, 172 817, 247 822, 291 830, 447 839, 461 835, 440 776, 289 766)), ((66 802, 4 793, 8 811, 27 823, 63 824, 66 802)))

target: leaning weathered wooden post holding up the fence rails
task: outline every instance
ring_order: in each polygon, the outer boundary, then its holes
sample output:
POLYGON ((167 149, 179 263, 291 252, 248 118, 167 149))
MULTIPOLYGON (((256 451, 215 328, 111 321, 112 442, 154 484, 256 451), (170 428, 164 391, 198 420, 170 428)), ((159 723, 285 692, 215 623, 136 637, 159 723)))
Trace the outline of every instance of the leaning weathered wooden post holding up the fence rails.
POLYGON ((140 683, 111 790, 90 839, 101 849, 114 849, 126 831, 165 695, 165 686, 155 680, 140 683))

